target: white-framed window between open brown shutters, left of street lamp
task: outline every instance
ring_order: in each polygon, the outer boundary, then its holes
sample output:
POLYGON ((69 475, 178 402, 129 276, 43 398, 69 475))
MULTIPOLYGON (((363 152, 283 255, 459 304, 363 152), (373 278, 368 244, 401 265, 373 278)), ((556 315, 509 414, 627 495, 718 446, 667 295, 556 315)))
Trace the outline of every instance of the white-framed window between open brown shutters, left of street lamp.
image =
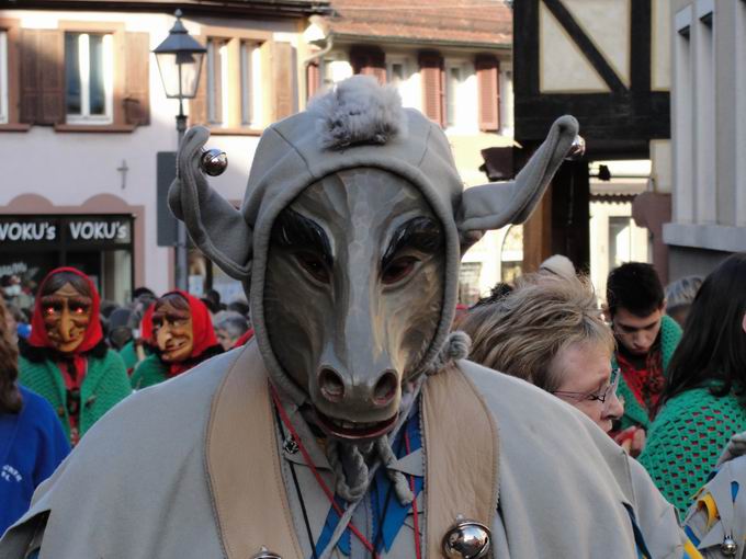
POLYGON ((68 124, 113 121, 111 34, 65 33, 65 107, 68 124))

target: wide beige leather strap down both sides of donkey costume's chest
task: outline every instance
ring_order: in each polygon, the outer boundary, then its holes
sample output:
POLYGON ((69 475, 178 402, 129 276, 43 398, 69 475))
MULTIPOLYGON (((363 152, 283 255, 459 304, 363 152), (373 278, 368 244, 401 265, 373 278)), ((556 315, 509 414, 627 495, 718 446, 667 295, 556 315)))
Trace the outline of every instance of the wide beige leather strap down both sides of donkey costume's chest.
MULTIPOLYGON (((249 559, 261 546, 303 559, 274 433, 267 370, 249 343, 213 398, 206 463, 228 559, 249 559)), ((456 515, 493 525, 497 507, 497 429, 476 388, 457 367, 425 383, 428 557, 456 515)))

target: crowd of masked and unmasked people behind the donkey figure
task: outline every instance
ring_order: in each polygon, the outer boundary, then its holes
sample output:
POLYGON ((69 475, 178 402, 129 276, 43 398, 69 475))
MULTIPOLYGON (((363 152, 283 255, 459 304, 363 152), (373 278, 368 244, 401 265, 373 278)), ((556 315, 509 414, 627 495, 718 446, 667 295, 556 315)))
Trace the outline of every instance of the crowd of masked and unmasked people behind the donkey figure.
MULTIPOLYGON (((635 475, 655 483, 645 498, 665 499, 685 517, 730 438, 746 430, 745 285, 746 254, 665 292, 652 265, 628 263, 609 275, 599 307, 589 282, 554 256, 515 285, 496 286, 457 328, 472 339, 472 361, 556 396, 614 437, 635 475)), ((0 315, 0 448, 13 465, 0 472, 0 531, 132 390, 252 333, 248 305, 225 307, 214 293, 156 297, 142 288, 131 305, 104 309, 92 282, 71 267, 44 278, 27 321, 1 301, 0 315)), ((658 521, 643 513, 640 522, 649 545, 658 521)))

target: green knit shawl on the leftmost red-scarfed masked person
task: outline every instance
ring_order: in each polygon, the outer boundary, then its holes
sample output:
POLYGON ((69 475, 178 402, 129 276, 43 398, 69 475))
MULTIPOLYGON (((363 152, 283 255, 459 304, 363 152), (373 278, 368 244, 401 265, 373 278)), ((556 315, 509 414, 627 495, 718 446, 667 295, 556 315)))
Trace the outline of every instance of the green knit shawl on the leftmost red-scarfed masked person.
MULTIPOLYGON (((19 357, 19 381, 39 393, 57 412, 65 433, 70 437, 70 418, 67 412, 65 380, 57 365, 52 361, 39 363, 19 357)), ((127 370, 122 357, 112 350, 103 358, 88 357, 88 370, 80 386, 80 436, 120 400, 132 393, 127 370)))

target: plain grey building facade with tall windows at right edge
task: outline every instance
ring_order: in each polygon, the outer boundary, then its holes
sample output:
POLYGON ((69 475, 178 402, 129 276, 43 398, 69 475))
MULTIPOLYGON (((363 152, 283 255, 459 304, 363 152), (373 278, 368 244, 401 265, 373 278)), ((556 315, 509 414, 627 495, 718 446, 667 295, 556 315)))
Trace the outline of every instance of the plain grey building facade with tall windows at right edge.
POLYGON ((746 2, 674 0, 672 278, 746 250, 746 2))

